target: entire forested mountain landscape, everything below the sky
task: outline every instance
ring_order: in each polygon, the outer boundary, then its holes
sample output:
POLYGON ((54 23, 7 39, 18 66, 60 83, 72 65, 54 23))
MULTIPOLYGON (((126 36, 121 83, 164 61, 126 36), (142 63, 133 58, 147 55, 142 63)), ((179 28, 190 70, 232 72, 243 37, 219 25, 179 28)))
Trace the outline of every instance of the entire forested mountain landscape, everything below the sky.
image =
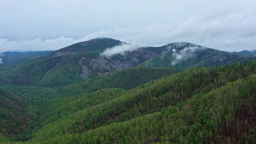
POLYGON ((0 144, 256 143, 247 51, 101 37, 1 58, 0 144))

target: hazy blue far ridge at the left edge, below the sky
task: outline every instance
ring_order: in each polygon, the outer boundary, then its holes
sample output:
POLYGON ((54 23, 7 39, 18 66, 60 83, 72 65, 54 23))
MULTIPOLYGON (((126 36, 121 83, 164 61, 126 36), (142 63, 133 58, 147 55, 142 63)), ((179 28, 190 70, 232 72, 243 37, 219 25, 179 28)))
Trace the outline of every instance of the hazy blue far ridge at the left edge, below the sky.
POLYGON ((36 59, 40 56, 51 53, 52 51, 38 51, 38 52, 4 52, 0 54, 1 63, 0 68, 15 66, 24 63, 28 60, 36 59))

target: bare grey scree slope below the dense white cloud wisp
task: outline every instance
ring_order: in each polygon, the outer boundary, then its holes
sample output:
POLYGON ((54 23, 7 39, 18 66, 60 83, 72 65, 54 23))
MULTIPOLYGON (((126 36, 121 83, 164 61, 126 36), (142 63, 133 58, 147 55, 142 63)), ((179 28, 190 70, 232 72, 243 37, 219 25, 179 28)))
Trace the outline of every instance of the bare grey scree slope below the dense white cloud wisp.
POLYGON ((153 51, 138 48, 136 51, 116 54, 112 57, 101 55, 93 59, 81 57, 79 65, 82 68, 82 73, 80 76, 82 76, 83 79, 88 79, 90 77, 130 68, 143 63, 155 55, 157 54, 153 51))

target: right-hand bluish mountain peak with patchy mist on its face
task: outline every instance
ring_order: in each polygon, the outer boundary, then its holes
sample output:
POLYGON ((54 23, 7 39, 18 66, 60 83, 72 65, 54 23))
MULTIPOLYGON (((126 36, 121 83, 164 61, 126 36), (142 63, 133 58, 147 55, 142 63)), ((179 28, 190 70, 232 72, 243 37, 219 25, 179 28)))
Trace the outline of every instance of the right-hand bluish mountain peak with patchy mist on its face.
POLYGON ((229 52, 219 51, 191 43, 173 43, 161 46, 161 54, 142 63, 146 67, 169 67, 189 69, 193 67, 218 66, 240 62, 246 58, 229 52))

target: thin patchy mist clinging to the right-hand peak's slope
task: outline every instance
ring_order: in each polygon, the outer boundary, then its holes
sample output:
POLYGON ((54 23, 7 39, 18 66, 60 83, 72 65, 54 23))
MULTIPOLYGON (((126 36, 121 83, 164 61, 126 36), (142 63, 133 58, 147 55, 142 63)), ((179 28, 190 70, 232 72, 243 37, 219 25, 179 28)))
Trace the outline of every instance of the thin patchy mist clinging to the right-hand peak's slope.
POLYGON ((180 61, 185 61, 188 58, 195 56, 195 52, 198 52, 204 48, 205 47, 193 46, 193 47, 186 47, 180 51, 173 49, 172 56, 174 57, 174 60, 172 61, 172 64, 175 65, 175 64, 179 63, 180 61))

